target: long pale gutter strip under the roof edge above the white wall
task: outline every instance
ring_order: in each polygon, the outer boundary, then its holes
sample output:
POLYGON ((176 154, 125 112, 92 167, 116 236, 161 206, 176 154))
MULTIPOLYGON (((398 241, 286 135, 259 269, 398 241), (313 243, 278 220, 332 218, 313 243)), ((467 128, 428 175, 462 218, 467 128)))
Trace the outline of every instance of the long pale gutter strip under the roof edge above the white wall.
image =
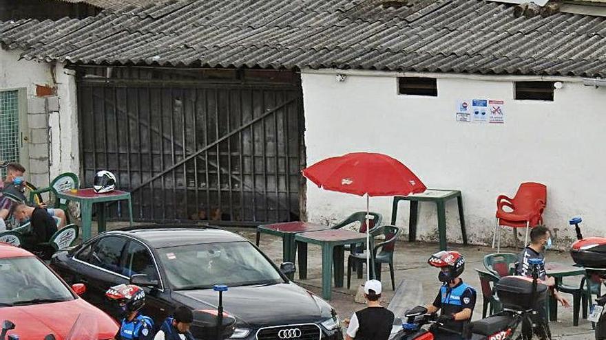
MULTIPOLYGON (((552 82, 585 82, 583 78, 562 77, 562 76, 512 76, 508 74, 470 74, 470 73, 441 73, 441 72, 396 72, 396 71, 373 71, 362 69, 301 69, 301 74, 342 74, 345 76, 364 76, 364 77, 426 77, 443 79, 469 79, 484 81, 552 81, 552 82)), ((606 81, 606 80, 604 80, 606 81)), ((602 84, 606 86, 606 83, 602 84)))

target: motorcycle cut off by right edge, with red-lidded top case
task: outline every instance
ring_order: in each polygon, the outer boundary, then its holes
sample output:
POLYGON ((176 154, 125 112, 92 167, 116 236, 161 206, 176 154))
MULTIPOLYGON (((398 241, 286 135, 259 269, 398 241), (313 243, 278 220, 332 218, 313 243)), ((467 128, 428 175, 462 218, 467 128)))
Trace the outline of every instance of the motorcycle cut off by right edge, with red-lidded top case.
MULTIPOLYGON (((583 238, 581 227, 578 226, 581 222, 583 222, 581 217, 574 217, 569 221, 570 225, 574 225, 577 238, 572 243, 570 256, 578 266, 585 268, 587 280, 598 283, 606 282, 606 238, 583 238)), ((594 322, 596 329, 596 340, 606 339, 605 304, 606 294, 596 299, 596 304, 592 306, 592 313, 589 315, 589 320, 594 322)))

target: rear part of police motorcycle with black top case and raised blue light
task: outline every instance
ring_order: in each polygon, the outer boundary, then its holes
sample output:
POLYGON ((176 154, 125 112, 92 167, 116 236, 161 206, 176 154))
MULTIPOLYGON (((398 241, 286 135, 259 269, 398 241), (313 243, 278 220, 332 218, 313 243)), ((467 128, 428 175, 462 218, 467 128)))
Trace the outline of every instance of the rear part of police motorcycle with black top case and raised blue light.
POLYGON ((545 305, 547 286, 539 282, 539 259, 530 259, 532 279, 506 276, 497 282, 497 295, 503 311, 479 321, 473 321, 463 330, 463 339, 471 340, 530 340, 551 339, 547 322, 539 315, 545 305))

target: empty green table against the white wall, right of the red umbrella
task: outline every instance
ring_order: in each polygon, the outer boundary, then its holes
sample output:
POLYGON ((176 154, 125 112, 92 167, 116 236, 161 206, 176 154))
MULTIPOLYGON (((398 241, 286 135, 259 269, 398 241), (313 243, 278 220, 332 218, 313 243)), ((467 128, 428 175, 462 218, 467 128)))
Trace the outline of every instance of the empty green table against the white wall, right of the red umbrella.
POLYGON ((440 250, 446 250, 446 201, 449 201, 450 199, 457 199, 457 204, 459 205, 459 220, 461 220, 461 234, 463 234, 463 244, 467 245, 465 217, 463 214, 463 198, 461 197, 460 190, 428 189, 420 194, 394 196, 393 206, 391 209, 391 224, 395 225, 399 201, 410 201, 408 241, 415 242, 415 240, 417 240, 417 217, 419 215, 419 202, 434 202, 437 205, 440 250))

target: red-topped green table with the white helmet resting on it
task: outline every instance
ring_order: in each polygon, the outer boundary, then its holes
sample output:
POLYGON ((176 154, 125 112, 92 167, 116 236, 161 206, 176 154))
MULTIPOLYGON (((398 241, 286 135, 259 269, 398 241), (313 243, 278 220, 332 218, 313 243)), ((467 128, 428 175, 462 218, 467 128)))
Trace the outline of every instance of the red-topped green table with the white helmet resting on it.
MULTIPOLYGON (((74 192, 65 191, 57 192, 56 196, 59 199, 67 199, 80 203, 80 214, 82 218, 82 240, 90 238, 90 229, 92 227, 92 205, 95 203, 105 203, 114 201, 128 201, 128 214, 130 216, 130 224, 132 225, 132 201, 130 192, 121 190, 113 190, 103 194, 97 194, 94 189, 79 189, 74 192)), ((105 231, 105 205, 101 205, 101 209, 97 212, 98 233, 105 231)))

